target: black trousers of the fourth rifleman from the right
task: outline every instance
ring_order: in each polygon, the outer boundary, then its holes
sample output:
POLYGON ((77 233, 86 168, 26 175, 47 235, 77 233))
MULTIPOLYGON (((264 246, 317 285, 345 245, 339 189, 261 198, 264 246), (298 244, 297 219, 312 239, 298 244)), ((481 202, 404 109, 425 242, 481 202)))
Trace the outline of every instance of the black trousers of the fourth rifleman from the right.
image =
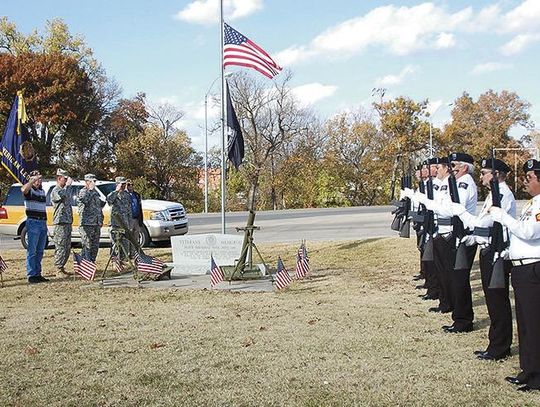
POLYGON ((433 239, 433 264, 439 281, 439 308, 443 312, 454 309, 451 277, 456 260, 456 239, 439 235, 433 239))

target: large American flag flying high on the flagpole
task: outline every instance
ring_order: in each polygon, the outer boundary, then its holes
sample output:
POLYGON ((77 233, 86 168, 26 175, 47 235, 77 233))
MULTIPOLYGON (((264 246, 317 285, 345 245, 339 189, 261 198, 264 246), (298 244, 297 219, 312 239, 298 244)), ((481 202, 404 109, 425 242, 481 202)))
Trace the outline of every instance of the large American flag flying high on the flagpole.
POLYGON ((223 27, 223 67, 237 65, 252 68, 270 79, 282 70, 264 49, 249 38, 227 23, 223 23, 223 27))

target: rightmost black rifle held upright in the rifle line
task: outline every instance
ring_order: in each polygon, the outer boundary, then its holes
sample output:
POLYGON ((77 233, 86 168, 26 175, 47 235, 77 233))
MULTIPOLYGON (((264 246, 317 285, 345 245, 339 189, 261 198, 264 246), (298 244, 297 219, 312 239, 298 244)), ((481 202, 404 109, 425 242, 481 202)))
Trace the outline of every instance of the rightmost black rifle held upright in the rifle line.
MULTIPOLYGON (((501 207, 501 193, 499 180, 495 172, 495 160, 491 159, 491 173, 493 178, 489 182, 491 185, 491 202, 493 206, 501 207)), ((505 288, 506 279, 504 275, 504 259, 501 253, 506 249, 507 243, 504 241, 503 227, 499 222, 493 222, 491 228, 491 249, 493 250, 493 271, 488 288, 505 288)))

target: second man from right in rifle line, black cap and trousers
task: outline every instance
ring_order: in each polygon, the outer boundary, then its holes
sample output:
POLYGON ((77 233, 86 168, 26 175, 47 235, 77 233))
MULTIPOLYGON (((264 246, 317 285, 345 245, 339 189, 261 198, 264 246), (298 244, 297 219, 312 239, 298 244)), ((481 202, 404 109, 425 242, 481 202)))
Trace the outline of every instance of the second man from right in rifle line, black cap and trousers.
MULTIPOLYGON (((512 218, 516 217, 516 200, 514 194, 506 184, 506 176, 511 171, 510 167, 501 160, 487 158, 482 160, 480 171, 480 182, 485 187, 491 189, 493 177, 497 177, 499 182, 500 203, 502 210, 512 218), (495 170, 495 173, 493 173, 495 170)), ((488 210, 492 206, 492 191, 489 192, 482 210, 478 216, 473 216, 466 211, 461 204, 453 204, 452 212, 459 216, 465 226, 473 230, 473 234, 465 236, 464 240, 476 243, 480 249, 480 275, 482 278, 482 289, 486 299, 489 319, 489 344, 485 351, 475 351, 475 355, 482 360, 501 360, 510 355, 512 345, 512 308, 509 298, 509 273, 512 263, 504 261, 505 286, 504 288, 489 288, 491 275, 493 273, 493 263, 495 247, 490 246, 490 229, 493 226, 493 217, 488 210)), ((506 233, 504 233, 506 235, 506 233)))

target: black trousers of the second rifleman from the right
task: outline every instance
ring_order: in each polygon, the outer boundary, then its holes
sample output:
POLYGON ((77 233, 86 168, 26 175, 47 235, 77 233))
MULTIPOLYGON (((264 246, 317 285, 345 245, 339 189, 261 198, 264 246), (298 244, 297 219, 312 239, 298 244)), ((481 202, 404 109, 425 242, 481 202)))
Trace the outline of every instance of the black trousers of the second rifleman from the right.
POLYGON ((480 275, 491 321, 488 334, 489 344, 486 350, 490 355, 499 357, 508 352, 512 345, 512 307, 508 294, 512 262, 504 261, 505 287, 489 288, 493 273, 493 254, 494 252, 489 248, 480 250, 480 275))

